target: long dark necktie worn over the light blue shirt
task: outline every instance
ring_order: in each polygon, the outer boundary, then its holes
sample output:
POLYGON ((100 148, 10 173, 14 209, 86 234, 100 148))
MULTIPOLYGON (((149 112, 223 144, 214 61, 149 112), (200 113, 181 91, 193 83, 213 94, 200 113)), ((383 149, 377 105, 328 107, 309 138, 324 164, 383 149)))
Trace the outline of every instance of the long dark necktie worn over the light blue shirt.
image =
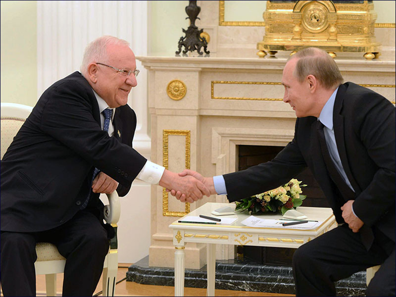
MULTIPOLYGON (((354 200, 355 193, 353 193, 353 191, 349 188, 349 186, 345 182, 344 178, 341 176, 340 172, 338 171, 336 165, 334 164, 330 156, 329 149, 327 148, 327 144, 326 144, 323 127, 324 125, 318 120, 316 132, 318 135, 320 149, 322 151, 322 156, 323 156, 323 160, 325 161, 327 171, 329 172, 329 175, 333 180, 333 182, 336 184, 337 188, 340 190, 340 193, 343 196, 343 198, 346 201, 354 200)), ((374 234, 372 229, 364 224, 360 228, 359 232, 363 245, 366 247, 367 250, 369 250, 374 241, 374 234)))

